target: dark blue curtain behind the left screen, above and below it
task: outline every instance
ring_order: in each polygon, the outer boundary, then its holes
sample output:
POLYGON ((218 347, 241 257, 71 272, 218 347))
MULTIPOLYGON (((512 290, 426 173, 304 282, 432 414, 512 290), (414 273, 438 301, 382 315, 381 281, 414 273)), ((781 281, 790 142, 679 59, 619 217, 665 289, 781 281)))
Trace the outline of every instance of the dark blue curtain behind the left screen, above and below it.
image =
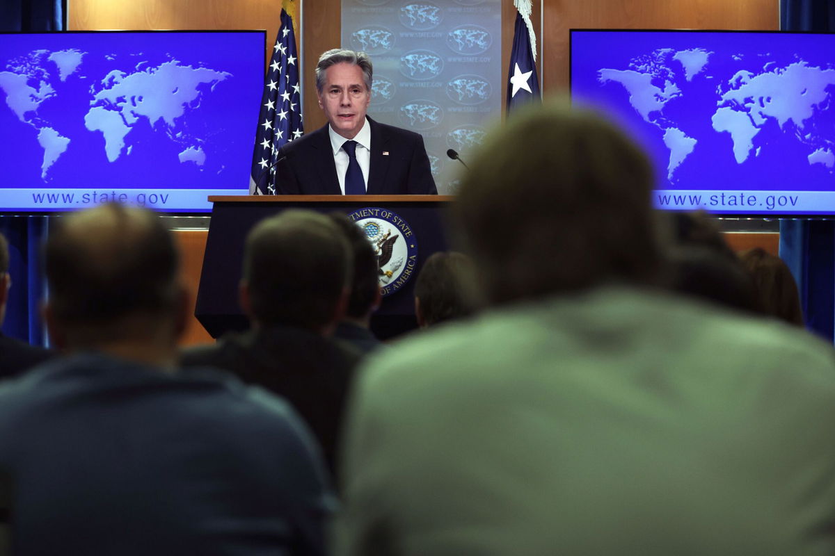
MULTIPOLYGON (((3 0, 0 31, 62 31, 64 5, 65 0, 3 0)), ((38 305, 43 297, 40 244, 47 229, 47 217, 0 216, 0 233, 9 242, 12 275, 3 333, 36 345, 46 343, 38 305)))

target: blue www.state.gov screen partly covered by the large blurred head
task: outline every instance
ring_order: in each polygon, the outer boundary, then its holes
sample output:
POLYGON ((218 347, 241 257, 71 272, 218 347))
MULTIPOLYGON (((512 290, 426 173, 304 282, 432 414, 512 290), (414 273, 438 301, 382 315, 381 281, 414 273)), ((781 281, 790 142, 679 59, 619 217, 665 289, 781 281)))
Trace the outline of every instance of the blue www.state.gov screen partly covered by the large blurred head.
POLYGON ((655 205, 835 214, 835 35, 571 31, 571 97, 626 128, 655 205))

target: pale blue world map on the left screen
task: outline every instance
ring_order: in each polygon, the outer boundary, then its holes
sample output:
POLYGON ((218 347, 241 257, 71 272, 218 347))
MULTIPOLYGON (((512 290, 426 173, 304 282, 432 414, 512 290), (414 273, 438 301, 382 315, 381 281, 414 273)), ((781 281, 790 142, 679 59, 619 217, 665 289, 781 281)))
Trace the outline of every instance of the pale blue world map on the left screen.
POLYGON ((8 108, 23 124, 13 130, 20 140, 27 140, 27 133, 37 138, 43 183, 53 180, 56 163, 76 142, 88 152, 103 149, 108 163, 138 157, 153 164, 156 143, 164 137, 180 164, 202 169, 210 156, 209 133, 195 126, 192 116, 232 75, 142 53, 101 56, 68 48, 0 60, 0 111, 8 108), (106 73, 99 74, 102 68, 106 73))

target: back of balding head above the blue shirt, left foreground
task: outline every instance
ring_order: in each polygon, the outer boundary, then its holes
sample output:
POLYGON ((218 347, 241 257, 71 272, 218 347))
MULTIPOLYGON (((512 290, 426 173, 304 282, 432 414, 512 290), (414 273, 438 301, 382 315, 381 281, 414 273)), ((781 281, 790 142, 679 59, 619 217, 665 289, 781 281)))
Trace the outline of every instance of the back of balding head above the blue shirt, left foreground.
POLYGON ((88 348, 164 329, 175 342, 184 295, 178 265, 171 234, 144 208, 108 203, 59 218, 44 248, 44 269, 60 341, 88 348), (149 322, 159 326, 144 329, 149 322))

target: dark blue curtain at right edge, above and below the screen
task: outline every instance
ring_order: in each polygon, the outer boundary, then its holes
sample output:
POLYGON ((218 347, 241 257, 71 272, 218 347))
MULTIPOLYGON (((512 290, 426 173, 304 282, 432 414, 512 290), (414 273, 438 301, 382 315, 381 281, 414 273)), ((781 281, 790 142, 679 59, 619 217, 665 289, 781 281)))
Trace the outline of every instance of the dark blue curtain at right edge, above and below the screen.
MULTIPOLYGON (((835 31, 832 0, 782 0, 783 31, 835 31)), ((807 327, 835 341, 835 222, 782 220, 780 257, 800 289, 807 327)))

